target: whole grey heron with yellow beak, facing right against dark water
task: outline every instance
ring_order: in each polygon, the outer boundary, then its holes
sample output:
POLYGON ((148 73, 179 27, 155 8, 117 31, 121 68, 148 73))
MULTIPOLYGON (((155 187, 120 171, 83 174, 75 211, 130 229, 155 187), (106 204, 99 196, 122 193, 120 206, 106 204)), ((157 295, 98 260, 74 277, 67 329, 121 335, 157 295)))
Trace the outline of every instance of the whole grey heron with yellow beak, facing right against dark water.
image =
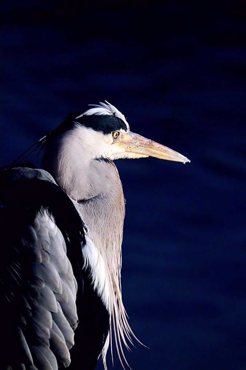
POLYGON ((0 171, 3 368, 93 370, 111 347, 122 366, 134 333, 121 295, 125 199, 114 160, 190 162, 129 130, 109 102, 72 112, 0 171), (31 147, 32 148, 32 147, 31 147), (25 153, 25 152, 24 152, 25 153))

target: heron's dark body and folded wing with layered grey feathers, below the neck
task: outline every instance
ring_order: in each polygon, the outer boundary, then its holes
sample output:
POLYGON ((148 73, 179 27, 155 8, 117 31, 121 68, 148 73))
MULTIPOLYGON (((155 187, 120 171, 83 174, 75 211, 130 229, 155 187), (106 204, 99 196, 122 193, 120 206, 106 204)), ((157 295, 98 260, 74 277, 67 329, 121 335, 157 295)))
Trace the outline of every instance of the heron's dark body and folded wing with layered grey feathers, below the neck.
POLYGON ((1 169, 0 226, 3 368, 94 369, 110 313, 84 267, 85 228, 72 201, 46 171, 1 169))

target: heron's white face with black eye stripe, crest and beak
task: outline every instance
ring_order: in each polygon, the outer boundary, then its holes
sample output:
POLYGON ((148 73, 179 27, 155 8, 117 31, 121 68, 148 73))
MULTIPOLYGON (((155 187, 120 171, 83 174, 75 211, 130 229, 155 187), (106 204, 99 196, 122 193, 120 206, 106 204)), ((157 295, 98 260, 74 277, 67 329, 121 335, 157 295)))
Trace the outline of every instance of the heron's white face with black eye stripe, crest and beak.
POLYGON ((150 156, 168 161, 190 162, 182 154, 131 132, 124 115, 113 105, 106 103, 100 103, 101 105, 89 109, 75 119, 88 137, 87 142, 91 148, 95 148, 95 158, 114 160, 150 156))

